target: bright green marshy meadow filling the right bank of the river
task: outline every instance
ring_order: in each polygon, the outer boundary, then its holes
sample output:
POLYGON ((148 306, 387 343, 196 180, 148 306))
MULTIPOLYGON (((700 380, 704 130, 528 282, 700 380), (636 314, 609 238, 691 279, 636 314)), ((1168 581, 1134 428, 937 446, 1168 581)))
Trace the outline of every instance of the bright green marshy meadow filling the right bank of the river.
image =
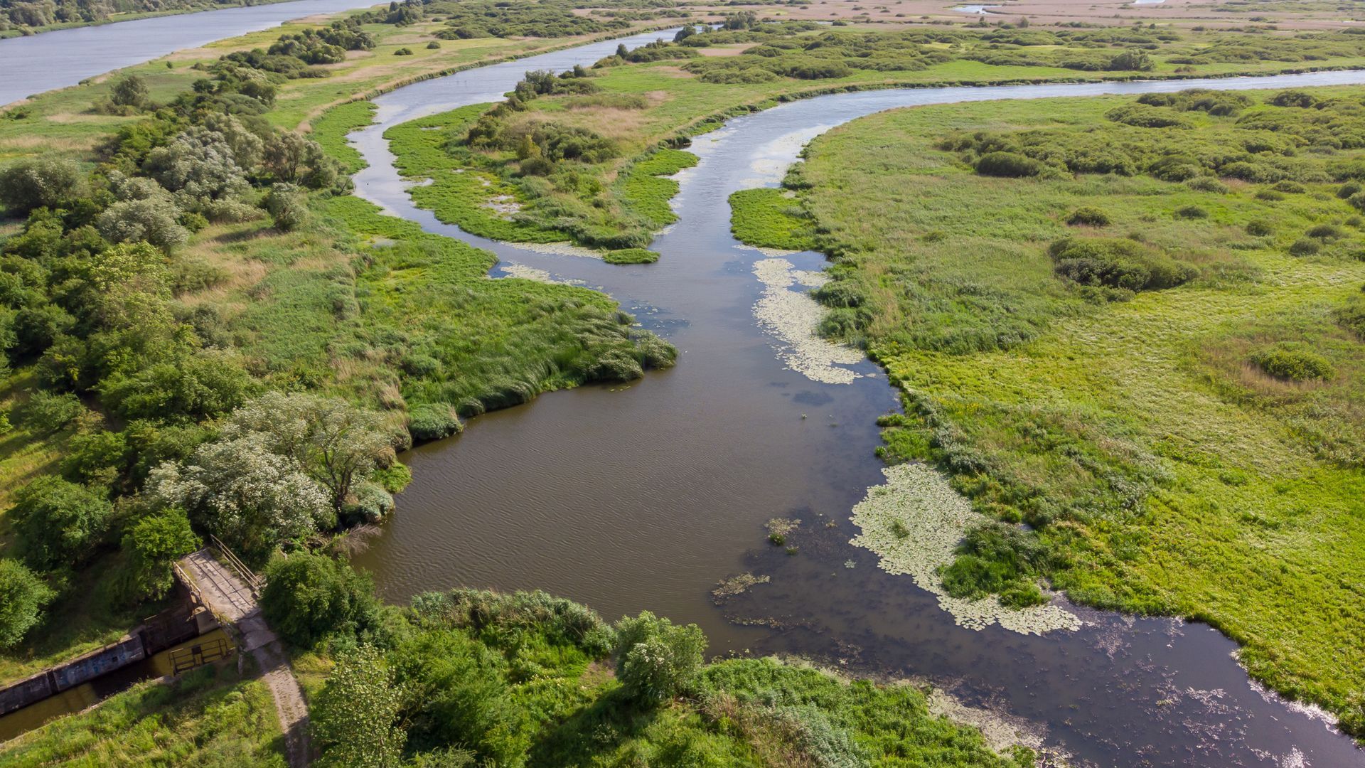
POLYGON ((823 329, 904 392, 887 458, 984 515, 950 590, 1046 577, 1207 620, 1361 734, 1362 92, 1145 101, 901 109, 812 142, 823 329))

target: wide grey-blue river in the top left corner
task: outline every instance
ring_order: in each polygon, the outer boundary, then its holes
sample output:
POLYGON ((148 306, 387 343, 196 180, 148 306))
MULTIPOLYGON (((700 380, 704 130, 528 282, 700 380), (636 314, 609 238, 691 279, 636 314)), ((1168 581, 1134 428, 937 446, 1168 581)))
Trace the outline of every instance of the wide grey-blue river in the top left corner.
POLYGON ((311 16, 366 8, 374 0, 296 0, 132 19, 0 40, 0 104, 82 79, 311 16))

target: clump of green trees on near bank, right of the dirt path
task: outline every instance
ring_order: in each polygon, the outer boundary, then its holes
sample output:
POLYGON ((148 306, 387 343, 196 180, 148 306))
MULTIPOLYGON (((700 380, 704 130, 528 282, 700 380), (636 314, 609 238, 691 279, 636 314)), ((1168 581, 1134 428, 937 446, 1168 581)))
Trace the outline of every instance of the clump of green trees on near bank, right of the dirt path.
POLYGON ((266 568, 266 619, 337 663, 310 707, 321 765, 523 765, 539 723, 520 698, 550 659, 612 657, 612 705, 647 712, 692 687, 706 637, 650 612, 614 626, 549 594, 460 589, 381 605, 341 560, 300 553, 266 568), (532 659, 539 659, 534 661, 532 659), (534 672, 539 670, 539 672, 534 672))

